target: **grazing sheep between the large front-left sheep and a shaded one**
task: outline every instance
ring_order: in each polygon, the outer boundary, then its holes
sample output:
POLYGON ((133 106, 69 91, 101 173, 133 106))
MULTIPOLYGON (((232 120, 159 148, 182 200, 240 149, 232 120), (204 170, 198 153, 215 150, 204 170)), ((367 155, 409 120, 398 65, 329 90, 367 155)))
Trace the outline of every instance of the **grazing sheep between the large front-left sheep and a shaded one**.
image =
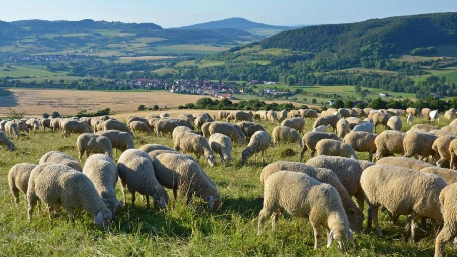
POLYGON ((104 154, 95 154, 87 158, 83 174, 92 181, 102 201, 114 216, 117 207, 123 207, 116 198, 115 187, 118 178, 116 163, 104 154))

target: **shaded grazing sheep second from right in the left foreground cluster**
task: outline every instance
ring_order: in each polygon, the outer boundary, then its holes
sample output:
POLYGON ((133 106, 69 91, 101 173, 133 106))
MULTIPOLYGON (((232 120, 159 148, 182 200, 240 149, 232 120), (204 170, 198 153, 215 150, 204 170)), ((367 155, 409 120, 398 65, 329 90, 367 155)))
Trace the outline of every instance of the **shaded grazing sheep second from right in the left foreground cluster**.
POLYGON ((154 206, 159 204, 160 208, 165 208, 168 203, 167 191, 158 182, 152 158, 146 152, 137 149, 126 150, 119 157, 117 170, 121 179, 124 205, 126 205, 125 194, 128 188, 132 196, 132 207, 135 203, 135 192, 138 192, 146 196, 148 208, 150 208, 149 196, 154 199, 154 206))

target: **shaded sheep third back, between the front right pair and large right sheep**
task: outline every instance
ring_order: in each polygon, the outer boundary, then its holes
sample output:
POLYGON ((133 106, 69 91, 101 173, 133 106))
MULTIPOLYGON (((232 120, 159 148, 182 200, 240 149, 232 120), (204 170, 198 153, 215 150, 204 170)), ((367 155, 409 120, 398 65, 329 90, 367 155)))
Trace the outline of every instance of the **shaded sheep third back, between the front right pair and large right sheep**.
POLYGON ((368 160, 321 155, 309 159, 306 164, 333 171, 344 185, 344 188, 346 188, 348 194, 351 197, 355 196, 358 208, 362 211, 364 210, 364 193, 360 186, 360 176, 366 168, 375 165, 374 163, 368 160))

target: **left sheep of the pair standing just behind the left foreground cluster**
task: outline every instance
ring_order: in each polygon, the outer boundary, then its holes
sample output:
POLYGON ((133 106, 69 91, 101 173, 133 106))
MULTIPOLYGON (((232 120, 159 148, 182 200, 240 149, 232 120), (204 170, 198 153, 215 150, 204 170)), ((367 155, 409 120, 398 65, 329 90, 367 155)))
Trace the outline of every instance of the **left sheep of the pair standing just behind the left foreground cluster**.
POLYGON ((76 140, 76 145, 78 147, 79 160, 81 162, 84 153, 86 153, 87 158, 92 153, 101 153, 110 158, 113 157, 113 146, 111 145, 111 140, 104 136, 84 133, 79 135, 76 140))

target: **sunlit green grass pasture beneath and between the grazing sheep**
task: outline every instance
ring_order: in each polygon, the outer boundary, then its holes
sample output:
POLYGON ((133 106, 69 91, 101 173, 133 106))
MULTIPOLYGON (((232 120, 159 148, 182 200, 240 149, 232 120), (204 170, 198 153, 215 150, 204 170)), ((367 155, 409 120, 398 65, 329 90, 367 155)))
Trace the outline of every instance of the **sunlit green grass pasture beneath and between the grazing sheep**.
MULTIPOLYGON (((194 110, 189 110, 193 113, 194 110)), ((180 110, 170 110, 177 116, 180 110)), ((214 111, 212 111, 214 113, 214 111)), ((139 113, 145 115, 146 112, 139 113)), ((124 114, 115 118, 124 118, 124 114)), ((410 126, 404 118, 403 131, 410 126)), ((314 120, 306 120, 306 131, 311 130, 314 120)), ((415 119, 414 123, 427 123, 415 119)), ((441 120, 440 125, 448 121, 441 120)), ((268 133, 278 124, 260 122, 268 133)), ((378 127, 377 133, 383 128, 378 127)), ((65 211, 59 211, 50 218, 46 212, 34 213, 27 222, 27 205, 20 197, 14 204, 8 189, 8 170, 17 163, 38 164, 40 157, 48 151, 62 151, 77 158, 77 135, 62 138, 60 133, 39 131, 21 134, 12 139, 17 150, 0 150, 0 249, 2 256, 431 256, 434 251, 435 233, 430 229, 419 230, 414 244, 408 244, 409 231, 404 228, 405 217, 397 225, 391 224, 386 213, 380 212, 380 226, 384 237, 377 236, 374 229, 365 229, 354 235, 355 246, 340 253, 336 244, 325 249, 325 237, 319 240, 320 247, 313 249, 314 237, 311 226, 302 218, 284 215, 278 228, 272 230, 271 220, 266 222, 264 233, 257 237, 258 213, 263 206, 263 186, 259 182, 262 168, 277 160, 298 161, 300 149, 297 144, 270 146, 266 163, 252 156, 244 167, 240 166, 240 156, 244 147, 234 147, 234 162, 222 165, 217 156, 217 164, 210 167, 200 159, 200 165, 214 181, 222 195, 222 205, 218 210, 209 211, 206 202, 193 198, 189 205, 178 194, 173 200, 172 192, 165 210, 147 209, 146 202, 137 196, 135 206, 119 208, 110 231, 96 228, 93 218, 83 211, 76 212, 72 223, 65 211), (292 149, 293 156, 281 156, 285 149, 292 149)), ((158 143, 173 147, 172 138, 155 135, 136 135, 135 146, 158 143)), ((120 153, 114 156, 115 161, 120 153)), ((359 154, 366 159, 366 153, 359 154)), ((310 158, 305 153, 304 162, 310 158)), ((84 165, 85 158, 82 165, 84 165)), ((122 200, 120 186, 116 186, 117 198, 122 200)), ((367 206, 365 206, 365 216, 367 206)), ((366 228, 366 220, 364 221, 366 228)), ((323 231, 321 231, 323 233, 323 231)), ((451 246, 446 248, 447 256, 455 256, 451 246)))

